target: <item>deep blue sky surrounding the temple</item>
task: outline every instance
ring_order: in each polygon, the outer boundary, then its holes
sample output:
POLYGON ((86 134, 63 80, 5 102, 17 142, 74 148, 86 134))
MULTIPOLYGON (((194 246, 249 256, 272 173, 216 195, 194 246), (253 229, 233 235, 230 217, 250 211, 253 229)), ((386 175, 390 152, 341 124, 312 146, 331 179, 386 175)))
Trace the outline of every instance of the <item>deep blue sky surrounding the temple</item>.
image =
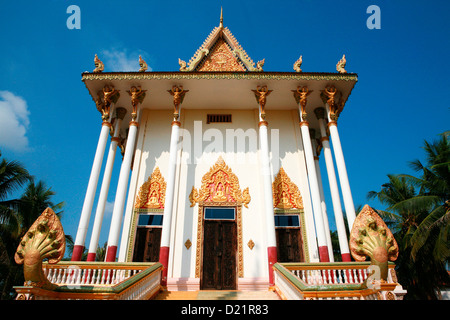
MULTIPOLYGON (((107 71, 136 71, 139 55, 153 71, 177 71, 178 58, 188 61, 219 24, 221 6, 224 25, 254 61, 265 58, 265 71, 292 71, 303 55, 303 71, 335 72, 346 54, 358 83, 339 133, 355 205, 382 208, 367 192, 387 174, 413 173, 407 162, 423 160, 423 141, 449 129, 447 1, 2 1, 0 150, 66 202, 66 234, 75 238, 101 124, 81 73, 94 69, 96 53, 107 71), (80 30, 66 26, 72 4, 80 30), (373 4, 381 29, 366 26, 373 4)), ((107 210, 117 177, 118 166, 107 210)))

